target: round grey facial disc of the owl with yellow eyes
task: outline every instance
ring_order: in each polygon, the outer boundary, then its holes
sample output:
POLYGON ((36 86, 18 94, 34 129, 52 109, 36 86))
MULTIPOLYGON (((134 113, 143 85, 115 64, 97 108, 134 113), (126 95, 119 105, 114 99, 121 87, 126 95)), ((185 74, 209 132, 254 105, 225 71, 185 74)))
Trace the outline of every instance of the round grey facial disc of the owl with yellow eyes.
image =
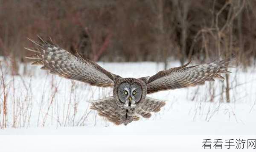
POLYGON ((125 105, 125 107, 134 107, 140 103, 142 97, 142 87, 139 83, 123 82, 118 87, 119 101, 125 105))

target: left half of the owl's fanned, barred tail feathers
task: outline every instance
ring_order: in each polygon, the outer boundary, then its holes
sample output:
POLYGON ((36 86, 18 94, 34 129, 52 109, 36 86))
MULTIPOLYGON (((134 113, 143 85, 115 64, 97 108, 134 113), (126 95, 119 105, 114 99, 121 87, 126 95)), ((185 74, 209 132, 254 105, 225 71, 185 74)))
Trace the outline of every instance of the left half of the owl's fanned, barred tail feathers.
POLYGON ((116 106, 114 106, 115 100, 113 96, 90 101, 90 103, 92 104, 90 109, 96 110, 100 116, 107 118, 108 121, 111 121, 116 125, 122 124, 120 114, 118 113, 116 106))

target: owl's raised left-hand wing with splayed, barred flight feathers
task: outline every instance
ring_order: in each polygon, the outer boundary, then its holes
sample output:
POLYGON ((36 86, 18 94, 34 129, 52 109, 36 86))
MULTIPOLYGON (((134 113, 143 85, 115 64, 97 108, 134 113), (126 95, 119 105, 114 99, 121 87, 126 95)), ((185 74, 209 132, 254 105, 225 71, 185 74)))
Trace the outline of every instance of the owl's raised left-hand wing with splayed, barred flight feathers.
POLYGON ((114 80, 119 78, 119 76, 108 72, 95 62, 83 59, 80 56, 74 56, 43 39, 41 39, 41 43, 29 40, 38 45, 38 48, 25 48, 36 53, 27 56, 27 58, 35 59, 36 61, 32 65, 43 65, 41 69, 49 70, 50 73, 99 87, 113 87, 114 80))

